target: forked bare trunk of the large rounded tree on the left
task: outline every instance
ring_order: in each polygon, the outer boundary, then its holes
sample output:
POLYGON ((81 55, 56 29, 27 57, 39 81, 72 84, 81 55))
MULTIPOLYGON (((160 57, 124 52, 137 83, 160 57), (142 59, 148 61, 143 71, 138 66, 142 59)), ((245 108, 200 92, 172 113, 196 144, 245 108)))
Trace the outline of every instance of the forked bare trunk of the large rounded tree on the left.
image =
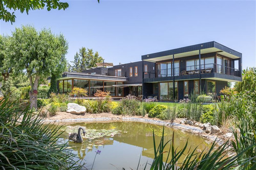
POLYGON ((30 85, 31 85, 31 91, 29 93, 29 102, 30 102, 30 109, 32 110, 35 108, 37 110, 37 87, 39 83, 39 76, 35 77, 35 81, 33 83, 32 77, 29 77, 30 85))

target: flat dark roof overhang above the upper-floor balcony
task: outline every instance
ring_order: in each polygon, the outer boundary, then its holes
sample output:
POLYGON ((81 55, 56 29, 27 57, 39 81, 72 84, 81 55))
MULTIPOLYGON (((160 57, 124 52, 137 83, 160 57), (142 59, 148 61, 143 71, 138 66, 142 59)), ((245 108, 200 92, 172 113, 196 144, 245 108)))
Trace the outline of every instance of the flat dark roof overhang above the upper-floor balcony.
POLYGON ((239 59, 242 57, 241 53, 234 51, 231 48, 221 45, 215 41, 211 41, 211 42, 176 48, 176 49, 168 50, 164 52, 143 55, 141 56, 141 58, 144 61, 157 62, 162 60, 173 59, 173 55, 174 55, 174 58, 199 55, 199 50, 201 50, 201 54, 217 53, 232 59, 239 59))

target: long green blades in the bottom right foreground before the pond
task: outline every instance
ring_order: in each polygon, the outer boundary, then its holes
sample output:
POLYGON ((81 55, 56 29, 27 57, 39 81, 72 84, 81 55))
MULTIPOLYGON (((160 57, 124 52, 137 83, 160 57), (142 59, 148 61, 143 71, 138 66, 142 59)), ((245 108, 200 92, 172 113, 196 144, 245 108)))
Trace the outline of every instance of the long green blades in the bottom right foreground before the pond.
MULTIPOLYGON (((252 138, 250 138, 252 139, 252 138)), ((245 145, 245 148, 238 152, 237 155, 225 157, 226 150, 228 149, 228 142, 217 146, 217 142, 212 143, 208 150, 201 153, 197 153, 197 148, 190 150, 187 145, 187 141, 184 148, 175 148, 174 145, 174 133, 173 138, 164 142, 164 127, 160 143, 157 147, 155 140, 155 132, 153 130, 153 143, 154 143, 154 155, 155 158, 151 164, 150 169, 254 169, 255 168, 255 155, 253 157, 243 156, 253 150, 255 147, 255 140, 250 140, 250 144, 245 145), (167 149, 165 149, 168 147, 167 149), (188 150, 188 152, 187 152, 188 150), (163 155, 167 155, 164 159, 163 155), (182 157, 185 158, 182 159, 182 157), (169 160, 170 159, 170 160, 169 160), (254 167, 254 168, 253 168, 254 167)), ((249 140, 249 139, 248 139, 249 140)), ((236 143, 234 143, 236 148, 236 143)), ((252 152, 251 152, 252 153, 252 152)), ((145 167, 146 168, 146 167, 145 167)))

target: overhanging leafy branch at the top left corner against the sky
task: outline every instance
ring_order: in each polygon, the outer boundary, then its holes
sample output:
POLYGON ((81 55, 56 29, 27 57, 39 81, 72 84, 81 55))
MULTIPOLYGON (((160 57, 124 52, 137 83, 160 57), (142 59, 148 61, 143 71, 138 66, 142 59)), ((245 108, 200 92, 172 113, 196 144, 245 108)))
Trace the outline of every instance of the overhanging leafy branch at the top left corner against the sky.
POLYGON ((48 11, 50 11, 51 9, 65 10, 69 7, 69 4, 59 2, 59 0, 34 0, 33 2, 31 2, 30 0, 3 0, 1 1, 0 5, 0 19, 3 19, 6 22, 10 21, 12 23, 15 22, 16 18, 13 11, 19 10, 21 13, 26 11, 26 13, 28 14, 30 10, 44 9, 45 6, 47 6, 48 11))

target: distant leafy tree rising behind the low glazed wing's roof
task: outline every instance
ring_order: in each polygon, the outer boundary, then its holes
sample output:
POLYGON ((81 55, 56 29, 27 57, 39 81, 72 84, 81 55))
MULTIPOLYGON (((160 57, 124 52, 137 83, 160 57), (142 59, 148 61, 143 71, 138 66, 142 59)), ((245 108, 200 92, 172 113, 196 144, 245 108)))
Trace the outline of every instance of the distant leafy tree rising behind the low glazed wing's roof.
POLYGON ((92 49, 81 47, 79 54, 76 53, 73 63, 73 71, 80 71, 86 68, 96 67, 96 63, 103 62, 103 58, 98 52, 93 52, 92 49))

